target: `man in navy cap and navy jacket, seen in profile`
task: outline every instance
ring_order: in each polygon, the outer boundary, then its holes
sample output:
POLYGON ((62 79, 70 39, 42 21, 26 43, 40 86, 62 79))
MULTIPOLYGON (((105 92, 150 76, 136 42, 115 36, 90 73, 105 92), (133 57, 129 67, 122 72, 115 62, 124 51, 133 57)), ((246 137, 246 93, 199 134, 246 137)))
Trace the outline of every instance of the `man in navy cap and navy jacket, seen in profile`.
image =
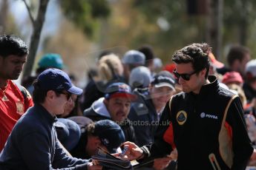
POLYGON ((56 115, 72 101, 70 95, 81 95, 82 89, 60 69, 46 69, 33 86, 35 105, 14 126, 0 154, 0 169, 102 169, 68 156, 53 126, 56 115))

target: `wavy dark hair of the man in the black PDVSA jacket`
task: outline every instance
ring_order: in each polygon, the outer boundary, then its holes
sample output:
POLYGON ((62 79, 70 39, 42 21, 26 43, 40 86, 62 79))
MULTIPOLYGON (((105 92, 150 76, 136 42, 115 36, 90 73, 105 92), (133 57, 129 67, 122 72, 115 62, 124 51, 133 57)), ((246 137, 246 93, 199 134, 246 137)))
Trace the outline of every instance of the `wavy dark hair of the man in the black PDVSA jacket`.
POLYGON ((176 64, 191 63, 194 71, 196 71, 197 73, 203 69, 206 69, 205 77, 208 77, 210 68, 209 57, 205 52, 203 52, 200 47, 197 47, 194 44, 177 50, 172 56, 172 61, 176 64))

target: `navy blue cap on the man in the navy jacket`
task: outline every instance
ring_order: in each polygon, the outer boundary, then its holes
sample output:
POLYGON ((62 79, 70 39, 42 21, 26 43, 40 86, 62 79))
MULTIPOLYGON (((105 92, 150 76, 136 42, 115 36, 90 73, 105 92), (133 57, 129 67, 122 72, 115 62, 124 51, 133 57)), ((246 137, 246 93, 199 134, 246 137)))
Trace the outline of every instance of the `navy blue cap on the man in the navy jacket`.
POLYGON ((62 91, 81 95, 82 89, 74 86, 66 72, 60 69, 45 69, 38 78, 40 89, 62 91))

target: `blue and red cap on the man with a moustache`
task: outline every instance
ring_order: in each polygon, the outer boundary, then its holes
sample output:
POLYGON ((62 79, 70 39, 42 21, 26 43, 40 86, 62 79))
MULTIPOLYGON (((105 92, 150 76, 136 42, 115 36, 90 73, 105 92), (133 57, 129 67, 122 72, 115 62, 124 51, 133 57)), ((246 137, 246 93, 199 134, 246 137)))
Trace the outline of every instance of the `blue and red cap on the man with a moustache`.
POLYGON ((134 101, 137 96, 131 92, 131 87, 125 83, 113 83, 105 89, 105 98, 130 98, 134 101))

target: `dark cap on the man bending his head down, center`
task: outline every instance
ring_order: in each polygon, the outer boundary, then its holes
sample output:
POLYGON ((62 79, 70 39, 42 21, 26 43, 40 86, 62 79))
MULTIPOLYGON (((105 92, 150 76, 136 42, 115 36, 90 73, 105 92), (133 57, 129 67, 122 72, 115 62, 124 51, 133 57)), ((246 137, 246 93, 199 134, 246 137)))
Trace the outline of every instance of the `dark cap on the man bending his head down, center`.
POLYGON ((125 135, 122 129, 112 120, 97 121, 94 133, 111 154, 116 153, 116 149, 125 142, 125 135))

